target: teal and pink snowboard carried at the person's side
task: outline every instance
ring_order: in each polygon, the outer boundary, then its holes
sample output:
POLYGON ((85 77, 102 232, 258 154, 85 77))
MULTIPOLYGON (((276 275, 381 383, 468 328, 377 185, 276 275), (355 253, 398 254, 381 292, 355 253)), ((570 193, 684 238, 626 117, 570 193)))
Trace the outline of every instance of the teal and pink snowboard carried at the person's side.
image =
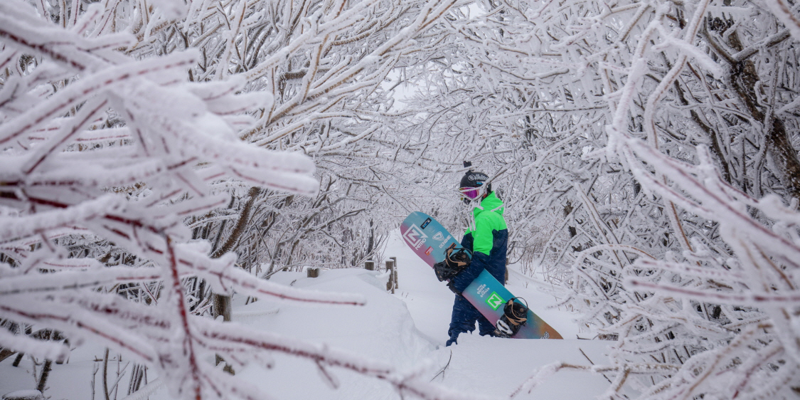
MULTIPOLYGON (((461 247, 461 243, 447 232, 447 230, 430 215, 415 211, 411 213, 400 225, 400 233, 403 242, 406 242, 411 250, 417 254, 428 266, 433 267, 435 263, 445 259, 445 250, 451 244, 461 247)), ((502 286, 497 279, 488 271, 483 270, 478 278, 475 278, 462 296, 467 299, 478 311, 483 314, 493 324, 497 324, 498 319, 503 314, 503 306, 514 294, 502 286)), ((514 300, 519 302, 519 300, 514 300)), ((524 302, 520 302, 525 304, 524 302)), ((513 338, 524 339, 561 339, 552 326, 544 322, 542 318, 534 314, 528 306, 528 321, 513 338)))

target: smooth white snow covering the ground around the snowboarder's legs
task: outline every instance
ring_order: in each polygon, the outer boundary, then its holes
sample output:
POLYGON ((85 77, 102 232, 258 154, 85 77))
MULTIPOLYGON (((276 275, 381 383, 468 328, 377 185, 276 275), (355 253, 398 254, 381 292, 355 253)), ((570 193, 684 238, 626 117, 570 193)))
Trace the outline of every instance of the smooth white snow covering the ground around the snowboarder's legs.
MULTIPOLYGON (((274 282, 309 289, 362 294, 366 306, 310 306, 260 299, 245 305, 246 298, 234 298, 234 323, 266 330, 346 350, 360 357, 390 362, 398 370, 425 368, 425 374, 442 386, 491 398, 508 398, 531 372, 552 362, 589 365, 606 363, 609 342, 578 340, 574 316, 566 311, 547 309, 557 299, 544 294, 532 279, 511 274, 509 288, 525 298, 531 308, 558 330, 566 340, 524 340, 484 338, 462 334, 458 346, 445 347, 453 294, 438 282, 430 270, 411 252, 399 235, 387 245, 387 257, 397 257, 399 290, 386 293, 387 274, 362 269, 322 270, 319 278, 302 273, 279 273, 274 282), (442 374, 438 374, 442 368, 442 374)), ((46 395, 53 399, 93 400, 92 373, 95 358, 102 358, 102 348, 90 343, 75 350, 68 364, 54 366, 46 395)), ((0 362, 0 395, 35 386, 30 360, 11 366, 12 358, 0 362)), ((121 366, 125 366, 123 357, 121 366)), ((386 383, 365 378, 346 370, 330 369, 339 382, 334 390, 321 377, 313 362, 277 354, 271 368, 246 366, 236 375, 252 382, 278 399, 399 399, 386 383)), ((111 377, 116 363, 111 363, 111 377)), ((154 380, 150 372, 148 379, 154 380)), ((543 382, 530 394, 518 399, 591 399, 606 389, 609 382, 602 375, 562 371, 543 382)), ((94 381, 94 400, 102 400, 100 374, 94 381)), ((127 378, 120 381, 117 400, 126 397, 127 378)), ((159 382, 150 400, 169 398, 159 382)), ((138 398, 137 396, 134 396, 138 398)), ((114 400, 112 394, 111 400, 114 400)))

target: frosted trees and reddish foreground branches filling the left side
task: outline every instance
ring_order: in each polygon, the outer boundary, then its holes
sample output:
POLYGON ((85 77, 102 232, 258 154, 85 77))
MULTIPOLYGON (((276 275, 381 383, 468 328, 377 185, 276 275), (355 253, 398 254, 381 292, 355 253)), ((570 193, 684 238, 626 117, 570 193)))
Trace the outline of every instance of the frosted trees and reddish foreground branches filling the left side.
POLYGON ((215 321, 194 298, 205 284, 222 295, 362 304, 249 274, 236 266, 247 252, 239 242, 254 240, 254 215, 274 210, 258 199, 308 202, 296 231, 324 230, 308 224, 337 198, 361 200, 357 190, 326 194, 334 174, 314 176, 314 163, 370 136, 368 123, 345 126, 369 119, 391 67, 382 60, 401 58, 450 4, 0 3, 2 350, 58 362, 70 346, 98 342, 156 370, 175 398, 263 398, 209 360, 235 369, 270 352, 310 359, 324 376, 338 367, 402 394, 464 398, 383 362, 215 321), (229 218, 238 238, 218 228, 218 241, 202 240, 214 218, 229 218))

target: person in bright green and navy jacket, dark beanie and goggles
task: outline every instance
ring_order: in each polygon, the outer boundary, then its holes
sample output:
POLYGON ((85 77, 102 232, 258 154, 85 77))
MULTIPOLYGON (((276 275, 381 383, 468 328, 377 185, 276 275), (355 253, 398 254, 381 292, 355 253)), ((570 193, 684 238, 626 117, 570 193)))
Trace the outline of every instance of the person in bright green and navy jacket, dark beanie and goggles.
MULTIPOLYGON (((471 164, 464 162, 464 166, 471 164)), ((502 217, 502 201, 492 191, 491 183, 486 185, 486 190, 482 190, 488 179, 486 174, 473 170, 468 170, 461 178, 459 191, 463 201, 473 206, 475 221, 472 229, 464 234, 461 246, 472 252, 472 259, 447 285, 455 294, 455 302, 450 330, 447 331, 450 340, 446 346, 457 343, 458 334, 475 330, 475 321, 478 321, 478 332, 482 336, 498 335, 494 325, 461 295, 482 270, 488 271, 498 282, 506 282, 508 229, 502 217)))

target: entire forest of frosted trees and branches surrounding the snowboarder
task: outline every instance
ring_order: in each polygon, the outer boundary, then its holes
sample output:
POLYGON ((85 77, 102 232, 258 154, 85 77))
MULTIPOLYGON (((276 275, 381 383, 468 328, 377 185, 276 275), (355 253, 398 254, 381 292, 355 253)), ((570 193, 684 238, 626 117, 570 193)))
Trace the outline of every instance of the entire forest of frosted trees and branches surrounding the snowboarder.
POLYGON ((282 352, 458 398, 222 317, 358 305, 269 278, 465 224, 470 160, 509 261, 610 341, 608 398, 796 398, 798 41, 790 0, 2 0, 0 361, 92 340, 255 399, 206 356, 282 352))

